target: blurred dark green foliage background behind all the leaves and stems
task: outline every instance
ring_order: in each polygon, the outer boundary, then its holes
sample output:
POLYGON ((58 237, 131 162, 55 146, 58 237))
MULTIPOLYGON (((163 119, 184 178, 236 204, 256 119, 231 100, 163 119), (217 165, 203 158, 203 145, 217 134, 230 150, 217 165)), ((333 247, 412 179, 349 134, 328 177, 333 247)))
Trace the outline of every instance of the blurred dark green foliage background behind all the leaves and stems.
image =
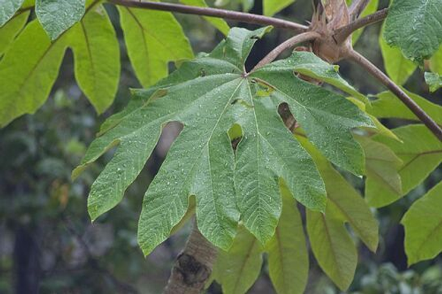
MULTIPOLYGON (((251 12, 261 13, 260 1, 216 1, 222 8, 240 9, 244 2, 251 12)), ((212 1, 213 3, 213 1, 212 1)), ((380 8, 387 6, 381 1, 380 8)), ((126 192, 117 208, 90 223, 86 212, 88 188, 108 162, 107 154, 77 181, 70 172, 79 164, 101 122, 121 110, 130 99, 128 89, 140 87, 128 62, 118 27, 117 12, 106 6, 119 35, 122 49, 122 78, 115 103, 103 116, 75 84, 72 54, 64 59, 51 97, 33 116, 23 116, 0 129, 0 293, 161 293, 176 255, 180 252, 189 226, 144 258, 137 247, 137 219, 142 196, 159 169, 180 125, 169 124, 142 174, 126 192)), ((311 16, 310 0, 298 0, 279 17, 306 24, 311 16)), ((222 35, 199 17, 177 15, 195 52, 209 51, 222 35)), ((245 24, 234 24, 255 28, 245 24)), ((363 34, 356 50, 383 68, 378 46, 380 25, 363 34)), ((258 42, 249 66, 289 32, 273 30, 258 42)), ((363 93, 384 89, 361 68, 343 62, 340 71, 363 93)), ((3 86, 3 85, 2 85, 3 86)), ((430 94, 418 69, 406 88, 442 104, 442 91, 430 94)), ((384 121, 389 127, 400 121, 384 121)), ((425 191, 442 179, 439 167, 401 201, 376 210, 381 228, 381 245, 376 255, 359 246, 359 265, 349 293, 442 293, 442 258, 407 268, 403 250, 403 228, 398 224, 405 210, 425 191)), ((349 177, 363 191, 363 183, 349 177)), ((213 284, 209 293, 220 293, 213 284)), ((262 275, 249 293, 274 293, 263 266, 262 275)), ((311 257, 306 293, 339 293, 311 257)))

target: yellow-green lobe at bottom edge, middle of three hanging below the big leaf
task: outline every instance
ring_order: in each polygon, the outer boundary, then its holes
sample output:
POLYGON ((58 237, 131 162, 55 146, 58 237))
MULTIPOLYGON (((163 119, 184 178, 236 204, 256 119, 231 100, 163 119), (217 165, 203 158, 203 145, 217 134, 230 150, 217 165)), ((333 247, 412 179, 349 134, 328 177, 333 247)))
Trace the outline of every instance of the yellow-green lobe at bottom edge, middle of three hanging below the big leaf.
POLYGON ((304 293, 309 275, 309 255, 296 201, 281 186, 282 214, 275 235, 266 245, 269 275, 278 294, 304 293))

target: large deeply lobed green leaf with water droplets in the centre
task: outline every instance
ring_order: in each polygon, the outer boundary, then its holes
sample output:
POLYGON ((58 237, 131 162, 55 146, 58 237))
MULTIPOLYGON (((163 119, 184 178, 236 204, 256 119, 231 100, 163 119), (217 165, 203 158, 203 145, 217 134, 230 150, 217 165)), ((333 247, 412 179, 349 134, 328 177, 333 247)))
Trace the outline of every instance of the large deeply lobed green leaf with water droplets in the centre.
POLYGON ((136 91, 128 108, 105 123, 74 172, 119 145, 91 187, 92 219, 121 201, 170 121, 182 122, 184 129, 144 198, 139 241, 146 254, 182 219, 191 195, 198 228, 224 249, 231 246, 240 216, 262 244, 273 236, 282 206, 278 178, 307 208, 325 210, 316 166, 278 116, 282 102, 327 158, 363 172, 363 152, 350 129, 372 122, 352 102, 299 80, 287 66, 290 59, 244 73, 251 47, 266 30, 232 29, 211 54, 184 62, 151 89, 136 91), (233 125, 242 130, 236 156, 227 134, 233 125))

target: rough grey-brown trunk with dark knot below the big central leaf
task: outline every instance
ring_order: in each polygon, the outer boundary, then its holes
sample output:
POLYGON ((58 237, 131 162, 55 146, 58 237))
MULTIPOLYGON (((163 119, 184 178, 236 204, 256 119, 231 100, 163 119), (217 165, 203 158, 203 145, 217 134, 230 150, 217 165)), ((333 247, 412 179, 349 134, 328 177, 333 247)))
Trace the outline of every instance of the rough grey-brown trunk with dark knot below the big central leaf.
POLYGON ((207 241, 196 223, 183 252, 177 257, 164 294, 199 294, 209 279, 218 249, 207 241))

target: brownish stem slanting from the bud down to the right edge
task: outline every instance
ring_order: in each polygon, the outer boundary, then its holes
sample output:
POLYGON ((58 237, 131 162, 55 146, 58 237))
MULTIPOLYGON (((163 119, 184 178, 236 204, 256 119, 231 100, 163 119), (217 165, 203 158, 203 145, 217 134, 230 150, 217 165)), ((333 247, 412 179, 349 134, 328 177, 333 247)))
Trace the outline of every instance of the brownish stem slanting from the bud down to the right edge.
POLYGON ((374 66, 371 62, 369 62, 368 59, 363 57, 363 55, 357 53, 355 50, 349 51, 348 58, 352 60, 353 62, 356 62, 356 64, 359 64, 363 68, 365 68, 366 71, 368 71, 373 77, 376 78, 379 82, 383 83, 385 86, 387 86, 390 91, 392 91, 401 101, 414 113, 419 120, 421 120, 430 131, 436 136, 441 142, 442 142, 442 129, 437 125, 436 122, 430 116, 419 107, 412 98, 410 98, 405 91, 401 89, 398 85, 394 84, 392 80, 390 80, 385 73, 383 73, 379 68, 374 66))

